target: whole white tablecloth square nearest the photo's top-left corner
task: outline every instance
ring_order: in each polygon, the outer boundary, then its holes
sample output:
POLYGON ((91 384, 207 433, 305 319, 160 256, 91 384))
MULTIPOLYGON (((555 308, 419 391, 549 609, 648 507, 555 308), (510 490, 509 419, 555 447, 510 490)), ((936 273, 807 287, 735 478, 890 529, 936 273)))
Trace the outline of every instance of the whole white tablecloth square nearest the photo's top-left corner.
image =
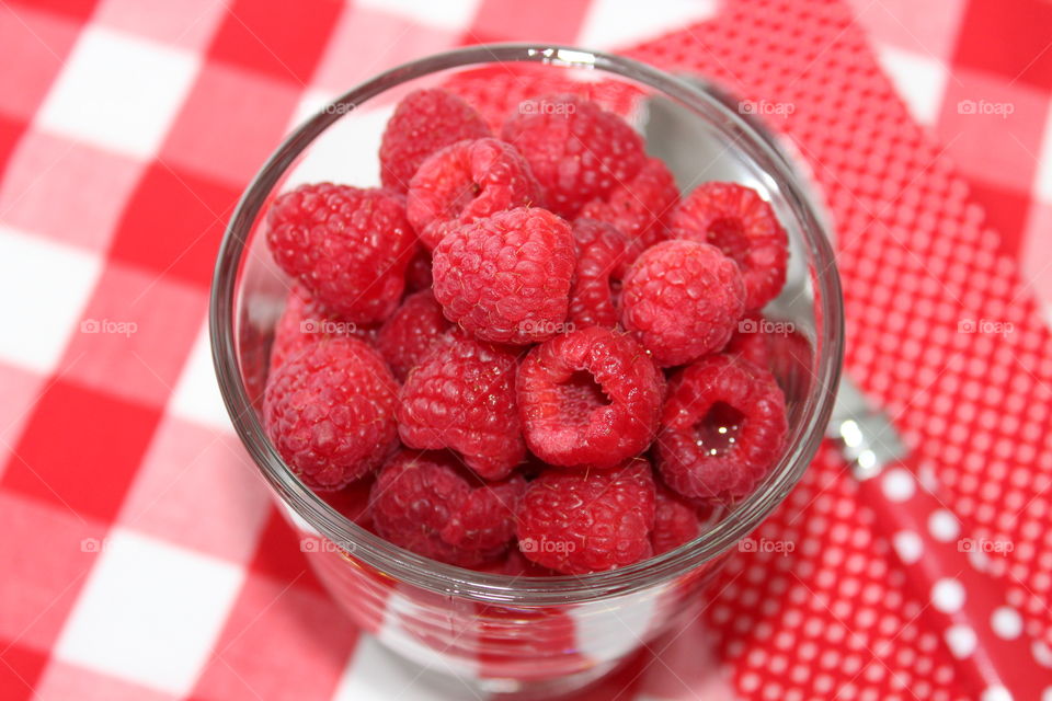
POLYGON ((155 154, 197 73, 188 51, 89 25, 36 117, 43 129, 137 158, 155 154))

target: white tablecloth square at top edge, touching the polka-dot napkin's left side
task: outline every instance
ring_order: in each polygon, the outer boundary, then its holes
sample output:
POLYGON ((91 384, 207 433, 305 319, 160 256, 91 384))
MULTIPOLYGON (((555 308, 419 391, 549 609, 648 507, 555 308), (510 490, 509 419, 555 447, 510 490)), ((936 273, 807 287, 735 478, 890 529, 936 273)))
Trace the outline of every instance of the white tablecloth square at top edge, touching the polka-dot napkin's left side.
POLYGON ((593 0, 578 34, 585 48, 630 46, 716 15, 717 0, 593 0))

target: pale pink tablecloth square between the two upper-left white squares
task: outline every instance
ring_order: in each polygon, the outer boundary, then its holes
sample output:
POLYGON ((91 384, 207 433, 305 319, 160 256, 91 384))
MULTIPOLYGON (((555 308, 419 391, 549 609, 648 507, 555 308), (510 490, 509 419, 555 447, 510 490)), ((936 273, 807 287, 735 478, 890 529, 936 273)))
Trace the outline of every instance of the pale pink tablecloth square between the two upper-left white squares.
POLYGON ((4 221, 103 252, 142 164, 80 141, 28 131, 0 181, 4 221))

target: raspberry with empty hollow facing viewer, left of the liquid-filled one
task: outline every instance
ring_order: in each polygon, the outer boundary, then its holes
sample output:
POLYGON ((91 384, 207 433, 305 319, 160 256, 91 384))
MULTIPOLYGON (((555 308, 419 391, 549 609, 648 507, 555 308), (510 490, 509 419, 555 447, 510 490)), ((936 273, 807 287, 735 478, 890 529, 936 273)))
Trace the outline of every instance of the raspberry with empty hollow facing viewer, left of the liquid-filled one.
POLYGON ((590 326, 530 350, 517 389, 534 455, 550 464, 609 468, 653 440, 664 377, 631 336, 590 326))

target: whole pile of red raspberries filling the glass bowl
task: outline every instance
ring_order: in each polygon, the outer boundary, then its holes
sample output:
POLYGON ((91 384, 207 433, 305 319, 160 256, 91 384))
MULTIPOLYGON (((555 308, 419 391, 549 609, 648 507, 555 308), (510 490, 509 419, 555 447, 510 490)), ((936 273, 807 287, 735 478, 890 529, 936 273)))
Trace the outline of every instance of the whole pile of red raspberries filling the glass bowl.
POLYGON ((622 567, 697 538, 781 458, 761 309, 787 237, 735 183, 685 197, 621 117, 528 100, 499 133, 421 90, 382 186, 278 196, 291 291, 263 421, 348 518, 507 575, 622 567))

